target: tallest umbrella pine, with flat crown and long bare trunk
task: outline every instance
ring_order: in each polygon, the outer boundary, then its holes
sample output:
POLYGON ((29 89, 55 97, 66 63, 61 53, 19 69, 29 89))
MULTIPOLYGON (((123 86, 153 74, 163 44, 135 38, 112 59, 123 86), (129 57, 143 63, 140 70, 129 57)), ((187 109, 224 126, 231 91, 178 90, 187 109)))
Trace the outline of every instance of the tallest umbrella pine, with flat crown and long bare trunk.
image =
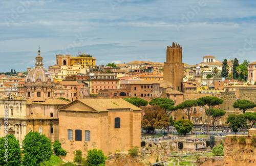
POLYGON ((214 96, 201 97, 197 100, 198 106, 203 107, 204 110, 209 109, 208 122, 207 122, 207 135, 209 134, 209 123, 210 123, 211 110, 214 109, 215 106, 222 104, 223 101, 224 101, 223 99, 220 99, 220 98, 214 97, 214 96))

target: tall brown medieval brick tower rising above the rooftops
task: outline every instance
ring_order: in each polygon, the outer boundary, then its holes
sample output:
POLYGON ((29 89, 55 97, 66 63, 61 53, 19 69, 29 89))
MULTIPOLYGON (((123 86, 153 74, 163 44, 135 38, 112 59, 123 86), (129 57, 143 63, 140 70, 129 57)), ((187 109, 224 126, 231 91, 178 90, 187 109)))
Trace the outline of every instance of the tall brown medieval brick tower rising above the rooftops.
POLYGON ((182 90, 182 78, 184 75, 184 63, 182 63, 182 47, 173 42, 167 46, 166 62, 164 62, 163 80, 173 84, 174 89, 182 90))

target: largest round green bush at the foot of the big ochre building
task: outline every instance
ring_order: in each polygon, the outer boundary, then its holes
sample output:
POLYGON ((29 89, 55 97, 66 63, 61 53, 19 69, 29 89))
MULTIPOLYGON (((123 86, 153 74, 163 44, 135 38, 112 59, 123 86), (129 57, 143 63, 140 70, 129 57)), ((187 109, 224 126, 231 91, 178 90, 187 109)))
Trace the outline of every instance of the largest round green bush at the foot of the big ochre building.
POLYGON ((93 149, 87 151, 87 157, 86 160, 84 160, 83 164, 84 166, 97 166, 97 165, 105 165, 106 157, 102 150, 93 149))

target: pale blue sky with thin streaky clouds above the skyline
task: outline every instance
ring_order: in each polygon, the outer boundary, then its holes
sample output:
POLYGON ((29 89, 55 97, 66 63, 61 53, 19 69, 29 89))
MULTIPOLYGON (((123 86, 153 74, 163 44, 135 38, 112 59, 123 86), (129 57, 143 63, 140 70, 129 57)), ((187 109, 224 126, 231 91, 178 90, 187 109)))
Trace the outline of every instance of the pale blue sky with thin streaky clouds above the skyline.
POLYGON ((256 1, 1 0, 0 72, 56 64, 56 54, 89 53, 96 65, 165 62, 166 47, 182 61, 202 57, 256 61, 256 1))

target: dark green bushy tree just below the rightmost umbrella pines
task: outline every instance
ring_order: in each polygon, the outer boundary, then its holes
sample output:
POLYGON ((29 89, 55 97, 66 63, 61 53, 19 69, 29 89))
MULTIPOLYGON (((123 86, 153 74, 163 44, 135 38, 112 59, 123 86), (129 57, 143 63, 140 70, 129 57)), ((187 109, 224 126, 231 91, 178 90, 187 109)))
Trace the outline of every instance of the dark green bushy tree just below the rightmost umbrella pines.
POLYGON ((230 114, 225 122, 229 127, 232 128, 233 132, 237 134, 240 127, 247 127, 246 119, 243 114, 230 114))

